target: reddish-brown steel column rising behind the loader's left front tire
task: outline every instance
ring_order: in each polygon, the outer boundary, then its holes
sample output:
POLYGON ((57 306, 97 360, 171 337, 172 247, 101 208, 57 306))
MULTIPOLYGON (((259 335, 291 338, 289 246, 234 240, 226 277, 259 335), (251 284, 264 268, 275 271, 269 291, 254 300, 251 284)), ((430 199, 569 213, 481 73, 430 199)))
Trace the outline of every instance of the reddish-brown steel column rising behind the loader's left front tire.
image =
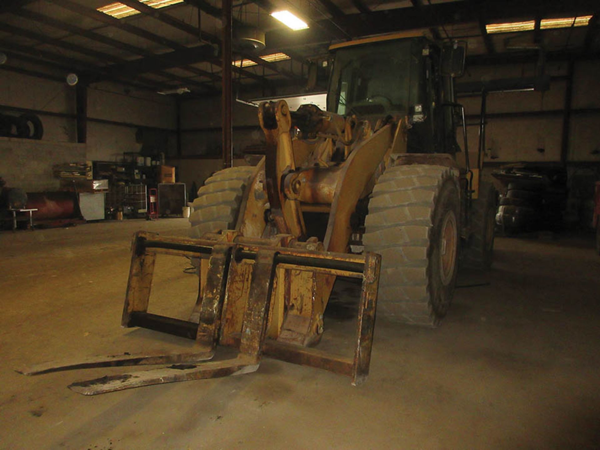
POLYGON ((223 39, 221 42, 221 53, 223 58, 223 77, 221 79, 221 121, 223 122, 223 167, 233 165, 233 142, 232 142, 232 0, 223 0, 223 39))

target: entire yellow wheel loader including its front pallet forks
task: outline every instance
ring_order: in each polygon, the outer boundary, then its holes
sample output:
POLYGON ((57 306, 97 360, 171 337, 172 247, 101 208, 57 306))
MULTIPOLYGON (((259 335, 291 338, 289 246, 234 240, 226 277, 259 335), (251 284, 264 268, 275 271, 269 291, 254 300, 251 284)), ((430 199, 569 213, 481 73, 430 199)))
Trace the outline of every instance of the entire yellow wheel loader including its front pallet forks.
POLYGON ((249 373, 266 355, 344 374, 356 385, 368 374, 376 307, 389 320, 438 325, 459 259, 485 268, 493 246, 495 197, 470 166, 464 110, 454 98, 464 46, 386 35, 331 52, 326 111, 260 104, 265 157, 206 180, 193 202, 190 238, 134 236, 122 325, 191 338, 196 350, 23 373, 163 365, 70 385, 92 395, 249 373), (148 313, 160 253, 197 262, 199 293, 188 320, 148 313), (337 277, 362 283, 353 358, 316 345, 337 277), (217 344, 239 353, 208 361, 217 344))

